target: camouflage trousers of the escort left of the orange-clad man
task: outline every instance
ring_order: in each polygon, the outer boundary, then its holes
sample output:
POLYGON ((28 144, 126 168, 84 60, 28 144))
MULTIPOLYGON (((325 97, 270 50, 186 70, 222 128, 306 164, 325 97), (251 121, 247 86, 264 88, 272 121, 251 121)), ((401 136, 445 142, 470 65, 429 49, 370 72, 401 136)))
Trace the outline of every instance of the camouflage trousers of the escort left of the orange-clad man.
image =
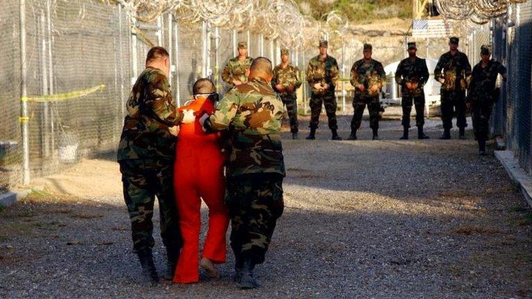
POLYGON ((152 216, 155 196, 159 200, 163 244, 179 250, 181 232, 173 188, 174 162, 167 159, 131 159, 118 163, 124 200, 130 214, 134 251, 149 251, 154 246, 152 216))

